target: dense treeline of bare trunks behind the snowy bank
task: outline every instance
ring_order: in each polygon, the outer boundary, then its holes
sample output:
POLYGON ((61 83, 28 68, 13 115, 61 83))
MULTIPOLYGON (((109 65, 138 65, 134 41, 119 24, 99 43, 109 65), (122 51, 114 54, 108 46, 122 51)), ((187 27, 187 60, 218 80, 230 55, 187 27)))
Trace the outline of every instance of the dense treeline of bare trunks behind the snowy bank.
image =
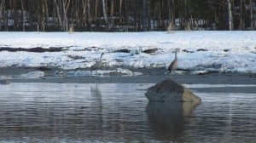
POLYGON ((255 29, 256 0, 0 0, 0 31, 255 29))

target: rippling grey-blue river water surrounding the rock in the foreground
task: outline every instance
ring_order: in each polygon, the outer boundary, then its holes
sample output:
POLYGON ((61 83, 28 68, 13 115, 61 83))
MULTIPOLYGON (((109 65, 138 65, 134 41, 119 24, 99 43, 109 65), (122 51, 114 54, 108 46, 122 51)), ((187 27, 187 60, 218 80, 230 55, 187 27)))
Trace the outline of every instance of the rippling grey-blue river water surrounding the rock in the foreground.
POLYGON ((0 85, 0 142, 255 142, 256 94, 195 90, 200 105, 148 103, 151 85, 0 85))

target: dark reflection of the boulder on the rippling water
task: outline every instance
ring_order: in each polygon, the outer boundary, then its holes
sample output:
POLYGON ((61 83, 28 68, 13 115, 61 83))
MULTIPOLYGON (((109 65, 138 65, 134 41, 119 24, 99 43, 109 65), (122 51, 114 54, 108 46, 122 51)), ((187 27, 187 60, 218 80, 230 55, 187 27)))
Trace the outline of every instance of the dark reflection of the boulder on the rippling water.
POLYGON ((182 140, 184 124, 195 106, 188 102, 148 102, 148 123, 157 140, 182 140))

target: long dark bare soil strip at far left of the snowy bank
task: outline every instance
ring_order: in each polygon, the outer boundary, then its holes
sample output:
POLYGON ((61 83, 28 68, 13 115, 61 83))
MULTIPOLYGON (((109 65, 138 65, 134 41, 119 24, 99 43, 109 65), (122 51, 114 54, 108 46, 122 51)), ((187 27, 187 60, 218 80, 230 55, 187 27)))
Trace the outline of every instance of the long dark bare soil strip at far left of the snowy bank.
POLYGON ((0 47, 0 52, 9 51, 9 52, 35 52, 35 53, 44 53, 44 52, 61 52, 67 49, 64 47, 44 49, 41 47, 31 48, 31 49, 22 49, 22 48, 9 48, 9 47, 0 47))

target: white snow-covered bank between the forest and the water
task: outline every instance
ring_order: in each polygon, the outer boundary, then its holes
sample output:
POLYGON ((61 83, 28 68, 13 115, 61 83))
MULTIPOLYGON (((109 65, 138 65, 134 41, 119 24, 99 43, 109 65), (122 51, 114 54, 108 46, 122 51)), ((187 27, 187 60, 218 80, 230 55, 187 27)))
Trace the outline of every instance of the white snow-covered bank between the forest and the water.
POLYGON ((88 68, 104 52, 105 66, 158 68, 168 66, 177 48, 180 69, 256 73, 255 31, 0 32, 0 67, 88 68), (35 48, 62 50, 24 50, 35 48))

